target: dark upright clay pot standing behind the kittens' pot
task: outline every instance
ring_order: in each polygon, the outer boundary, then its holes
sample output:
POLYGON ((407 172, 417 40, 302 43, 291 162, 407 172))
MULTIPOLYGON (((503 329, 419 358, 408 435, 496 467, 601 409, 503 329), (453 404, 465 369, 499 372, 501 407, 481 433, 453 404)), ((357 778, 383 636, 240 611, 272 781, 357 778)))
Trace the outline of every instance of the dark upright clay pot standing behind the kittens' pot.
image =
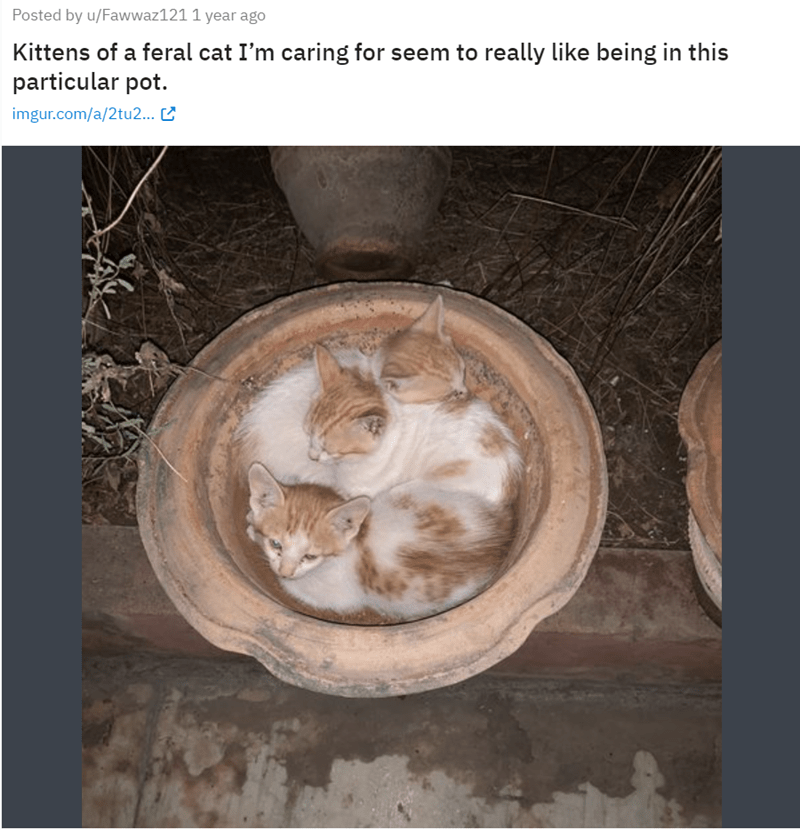
POLYGON ((270 156, 323 278, 414 272, 450 175, 446 147, 272 147, 270 156))

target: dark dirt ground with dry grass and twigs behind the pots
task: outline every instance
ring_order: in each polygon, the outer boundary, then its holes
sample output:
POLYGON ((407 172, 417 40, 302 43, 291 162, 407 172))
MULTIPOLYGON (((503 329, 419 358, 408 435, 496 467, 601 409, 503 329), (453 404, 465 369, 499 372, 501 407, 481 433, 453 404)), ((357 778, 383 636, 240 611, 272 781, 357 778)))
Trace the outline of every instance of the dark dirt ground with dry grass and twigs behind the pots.
MULTIPOLYGON (((160 151, 84 151, 84 523, 135 524, 136 446, 168 365, 252 308, 321 284, 267 148, 169 148, 146 176, 160 151)), ((721 152, 452 155, 413 279, 497 304, 571 363, 608 461, 603 545, 688 550, 677 413, 722 336, 721 152)))

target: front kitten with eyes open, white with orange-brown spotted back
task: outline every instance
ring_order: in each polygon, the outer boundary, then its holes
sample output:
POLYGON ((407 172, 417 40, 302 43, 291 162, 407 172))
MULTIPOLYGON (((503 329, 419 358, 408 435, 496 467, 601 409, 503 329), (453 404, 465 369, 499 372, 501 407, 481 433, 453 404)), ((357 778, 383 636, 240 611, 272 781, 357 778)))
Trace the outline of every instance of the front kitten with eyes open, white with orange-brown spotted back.
POLYGON ((419 482, 345 500, 282 486, 258 463, 248 478, 248 535, 281 586, 320 610, 413 619, 452 608, 488 585, 513 531, 507 511, 419 482))

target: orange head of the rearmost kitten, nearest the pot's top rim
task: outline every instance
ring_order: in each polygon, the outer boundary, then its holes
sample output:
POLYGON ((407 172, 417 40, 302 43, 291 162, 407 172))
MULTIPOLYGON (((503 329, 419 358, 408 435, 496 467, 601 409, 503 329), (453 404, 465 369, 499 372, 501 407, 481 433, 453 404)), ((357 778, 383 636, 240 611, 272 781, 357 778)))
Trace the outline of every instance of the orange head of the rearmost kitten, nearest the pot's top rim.
POLYGON ((381 350, 381 382, 402 403, 467 395, 464 359, 444 331, 441 296, 411 326, 387 337, 381 350))

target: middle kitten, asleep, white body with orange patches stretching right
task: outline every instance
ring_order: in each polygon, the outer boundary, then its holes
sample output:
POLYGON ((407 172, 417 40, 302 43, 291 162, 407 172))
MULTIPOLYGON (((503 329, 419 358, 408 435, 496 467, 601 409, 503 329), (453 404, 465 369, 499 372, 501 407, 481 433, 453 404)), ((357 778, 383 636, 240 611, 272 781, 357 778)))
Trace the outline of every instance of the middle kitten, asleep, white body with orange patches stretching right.
POLYGON ((317 349, 320 391, 305 421, 309 455, 346 495, 375 496, 406 481, 472 493, 490 504, 516 497, 522 456, 486 401, 472 397, 404 404, 365 383, 352 394, 349 370, 317 349))

